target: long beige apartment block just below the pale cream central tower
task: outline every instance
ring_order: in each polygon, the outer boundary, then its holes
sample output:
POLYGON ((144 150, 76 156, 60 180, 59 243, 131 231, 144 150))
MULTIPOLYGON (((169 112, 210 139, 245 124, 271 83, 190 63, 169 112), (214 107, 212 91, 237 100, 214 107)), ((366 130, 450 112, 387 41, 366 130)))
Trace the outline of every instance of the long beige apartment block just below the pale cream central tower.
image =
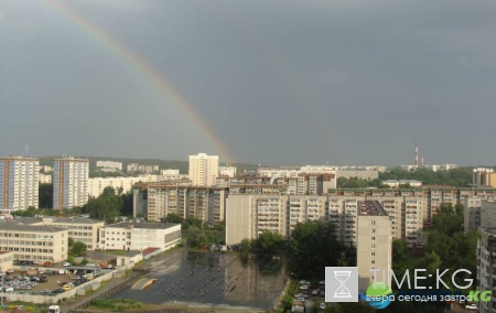
MULTIPOLYGON (((149 184, 145 216, 148 220, 158 222, 174 213, 183 218, 219 224, 225 218, 227 195, 228 190, 223 187, 181 186, 168 182, 149 184)), ((134 194, 134 197, 139 199, 140 195, 134 194)))

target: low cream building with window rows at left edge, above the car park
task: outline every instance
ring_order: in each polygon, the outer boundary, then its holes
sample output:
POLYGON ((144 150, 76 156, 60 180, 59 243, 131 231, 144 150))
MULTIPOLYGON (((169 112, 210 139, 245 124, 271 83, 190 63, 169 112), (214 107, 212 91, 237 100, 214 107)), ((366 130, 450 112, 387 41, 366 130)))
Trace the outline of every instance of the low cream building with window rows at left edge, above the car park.
POLYGON ((67 259, 68 230, 52 226, 0 224, 0 250, 13 259, 61 262, 67 259))

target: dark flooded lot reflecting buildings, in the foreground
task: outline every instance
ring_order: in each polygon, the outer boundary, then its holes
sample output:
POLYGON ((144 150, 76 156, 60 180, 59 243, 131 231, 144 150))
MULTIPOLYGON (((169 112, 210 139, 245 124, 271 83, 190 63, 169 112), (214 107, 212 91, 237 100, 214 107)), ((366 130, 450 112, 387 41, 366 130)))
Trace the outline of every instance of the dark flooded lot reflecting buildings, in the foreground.
POLYGON ((271 309, 287 283, 282 260, 247 260, 238 253, 177 250, 151 268, 147 278, 157 279, 154 284, 112 298, 271 309))

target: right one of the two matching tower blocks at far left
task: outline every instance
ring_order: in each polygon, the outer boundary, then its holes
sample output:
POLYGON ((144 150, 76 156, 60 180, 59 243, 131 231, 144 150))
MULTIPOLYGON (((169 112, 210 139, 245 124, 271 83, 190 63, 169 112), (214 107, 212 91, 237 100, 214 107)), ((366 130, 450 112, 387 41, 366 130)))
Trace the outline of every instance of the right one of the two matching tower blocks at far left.
POLYGON ((53 164, 53 208, 72 208, 88 202, 89 161, 61 158, 53 164))

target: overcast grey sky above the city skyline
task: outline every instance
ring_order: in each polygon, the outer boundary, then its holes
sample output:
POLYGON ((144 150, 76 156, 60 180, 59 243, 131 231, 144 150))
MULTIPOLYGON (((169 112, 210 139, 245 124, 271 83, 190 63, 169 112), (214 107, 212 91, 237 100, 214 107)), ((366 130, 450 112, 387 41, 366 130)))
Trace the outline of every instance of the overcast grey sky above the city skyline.
MULTIPOLYGON (((496 164, 496 1, 60 1, 171 83, 234 161, 496 164)), ((0 154, 222 153, 50 2, 0 0, 0 154)), ((226 161, 222 155, 220 161, 226 161)))

